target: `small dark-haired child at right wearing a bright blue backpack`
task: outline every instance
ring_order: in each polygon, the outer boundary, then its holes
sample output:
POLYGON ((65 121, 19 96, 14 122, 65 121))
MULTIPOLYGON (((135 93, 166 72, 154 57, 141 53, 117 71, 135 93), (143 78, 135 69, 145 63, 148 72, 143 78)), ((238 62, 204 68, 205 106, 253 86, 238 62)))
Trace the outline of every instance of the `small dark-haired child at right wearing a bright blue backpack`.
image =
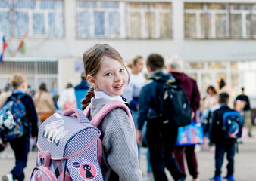
POLYGON ((227 174, 224 178, 228 181, 235 181, 235 145, 236 139, 241 137, 242 134, 242 120, 239 112, 227 106, 229 94, 226 92, 220 93, 218 102, 220 103, 220 109, 213 112, 210 127, 210 141, 215 144, 215 174, 211 180, 222 181, 221 167, 226 152, 228 164, 226 166, 227 174))

